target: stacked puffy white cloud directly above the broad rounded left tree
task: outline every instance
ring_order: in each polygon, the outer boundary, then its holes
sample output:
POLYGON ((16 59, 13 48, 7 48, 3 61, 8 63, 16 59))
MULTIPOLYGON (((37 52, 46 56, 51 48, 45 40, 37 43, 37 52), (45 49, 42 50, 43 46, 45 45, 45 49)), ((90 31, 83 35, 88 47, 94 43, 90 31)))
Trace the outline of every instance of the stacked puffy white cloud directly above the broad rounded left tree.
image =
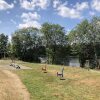
POLYGON ((37 21, 40 19, 40 15, 37 12, 23 13, 21 15, 23 23, 19 24, 18 28, 36 27, 41 28, 41 24, 37 21))

